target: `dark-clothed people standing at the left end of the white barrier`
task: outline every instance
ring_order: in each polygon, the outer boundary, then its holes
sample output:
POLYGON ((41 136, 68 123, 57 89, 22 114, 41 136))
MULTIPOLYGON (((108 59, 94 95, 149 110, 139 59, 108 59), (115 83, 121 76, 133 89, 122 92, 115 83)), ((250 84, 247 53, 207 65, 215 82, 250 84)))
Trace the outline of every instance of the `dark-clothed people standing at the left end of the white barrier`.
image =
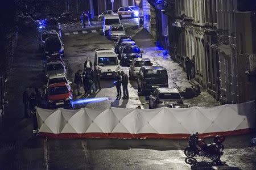
POLYGON ((34 123, 34 130, 38 129, 38 124, 36 120, 35 107, 41 107, 42 105, 42 94, 35 88, 35 91, 29 92, 29 88, 23 92, 23 104, 24 104, 24 117, 32 117, 34 123), (28 114, 28 110, 30 114, 28 114))

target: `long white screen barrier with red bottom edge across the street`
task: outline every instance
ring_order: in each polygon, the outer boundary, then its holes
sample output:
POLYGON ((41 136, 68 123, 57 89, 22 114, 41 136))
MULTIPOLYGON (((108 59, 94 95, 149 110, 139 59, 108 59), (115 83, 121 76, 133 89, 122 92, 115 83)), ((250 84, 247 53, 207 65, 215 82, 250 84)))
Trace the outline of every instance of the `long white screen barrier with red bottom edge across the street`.
POLYGON ((52 138, 186 138, 248 133, 255 127, 254 101, 213 108, 36 108, 39 136, 52 138))

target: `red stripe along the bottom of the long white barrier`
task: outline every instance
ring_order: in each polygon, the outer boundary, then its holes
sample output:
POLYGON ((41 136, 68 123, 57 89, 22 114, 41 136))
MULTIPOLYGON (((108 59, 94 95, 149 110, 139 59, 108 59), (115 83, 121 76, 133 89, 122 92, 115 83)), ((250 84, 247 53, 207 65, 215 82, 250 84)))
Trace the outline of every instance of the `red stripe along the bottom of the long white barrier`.
MULTIPOLYGON (((233 130, 233 131, 220 131, 220 132, 213 132, 213 133, 203 133, 199 134, 200 138, 209 138, 214 137, 215 135, 241 135, 250 133, 251 129, 240 129, 240 130, 233 130)), ((48 138, 55 138, 55 139, 71 139, 71 138, 117 138, 117 139, 149 139, 149 138, 156 138, 156 139, 186 139, 191 134, 156 134, 156 133, 140 133, 140 134, 130 134, 130 133, 60 133, 60 134, 53 134, 53 133, 44 133, 39 132, 39 137, 48 137, 48 138)))

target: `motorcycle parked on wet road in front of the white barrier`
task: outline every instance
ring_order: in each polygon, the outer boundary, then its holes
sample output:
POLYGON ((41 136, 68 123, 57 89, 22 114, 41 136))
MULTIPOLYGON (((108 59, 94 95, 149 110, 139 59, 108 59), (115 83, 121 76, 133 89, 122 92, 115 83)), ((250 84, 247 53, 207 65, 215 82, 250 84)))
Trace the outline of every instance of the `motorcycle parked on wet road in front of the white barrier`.
POLYGON ((196 155, 206 156, 212 159, 214 162, 220 160, 221 155, 223 155, 225 137, 221 135, 216 135, 213 139, 214 143, 208 144, 205 143, 203 139, 199 138, 199 134, 192 134, 189 138, 189 146, 185 148, 184 154, 188 158, 193 158, 196 155))

